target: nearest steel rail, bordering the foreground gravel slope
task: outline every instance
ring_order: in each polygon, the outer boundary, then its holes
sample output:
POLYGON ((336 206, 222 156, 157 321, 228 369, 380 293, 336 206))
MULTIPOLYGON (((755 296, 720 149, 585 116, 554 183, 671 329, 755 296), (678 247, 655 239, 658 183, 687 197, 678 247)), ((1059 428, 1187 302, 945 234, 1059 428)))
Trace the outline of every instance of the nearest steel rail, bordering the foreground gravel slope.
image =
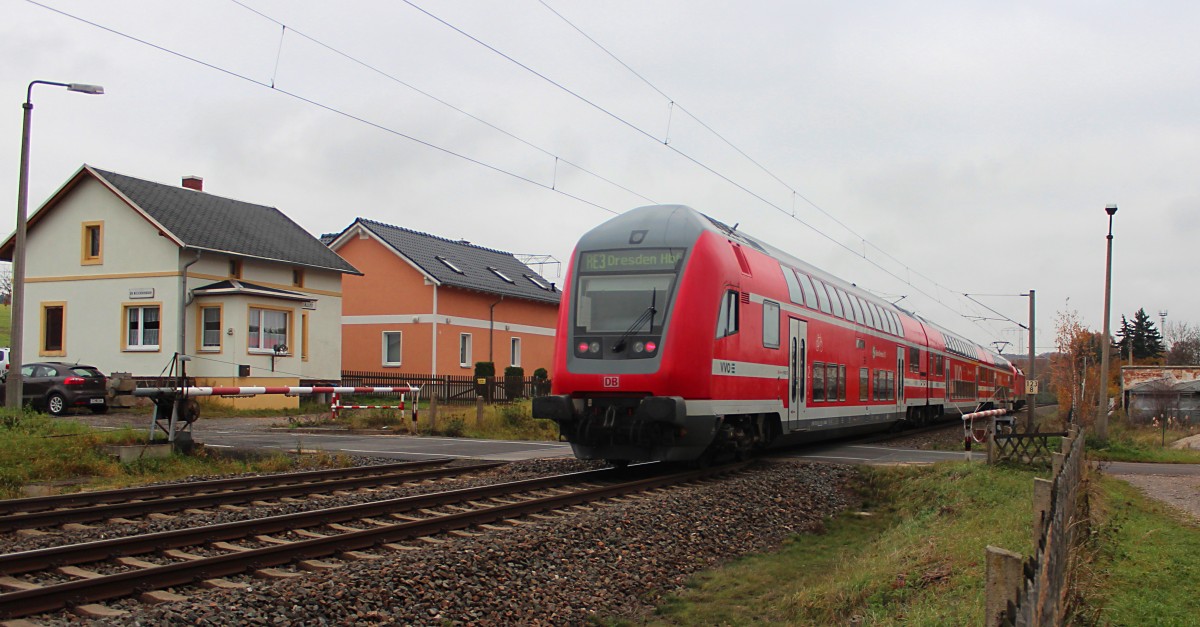
MULTIPOLYGON (((412 539, 438 532, 494 522, 506 518, 516 518, 624 494, 646 491, 676 483, 715 477, 742 470, 750 464, 752 462, 746 461, 728 466, 650 477, 613 485, 583 489, 565 495, 553 495, 517 503, 499 504, 472 512, 445 514, 426 520, 398 522, 395 525, 353 531, 324 538, 299 541, 289 544, 271 545, 262 549, 251 549, 214 557, 176 562, 154 568, 116 573, 95 579, 82 579, 32 590, 8 592, 0 595, 0 616, 29 616, 43 611, 62 609, 68 605, 124 597, 133 592, 161 590, 164 587, 191 584, 198 580, 239 574, 250 569, 269 568, 272 566, 284 565, 298 559, 325 557, 338 553, 371 548, 382 543, 412 539)), ((594 474, 595 472, 596 471, 593 471, 592 473, 575 474, 588 476, 594 474)), ((552 479, 560 479, 562 477, 565 476, 554 477, 552 479)), ((511 486, 527 482, 515 482, 514 484, 500 485, 511 486)), ((460 490, 460 492, 466 492, 466 490, 460 490)), ((510 489, 506 494, 511 492, 512 490, 510 489)), ((480 495, 476 494, 474 497, 478 498, 480 495)))

